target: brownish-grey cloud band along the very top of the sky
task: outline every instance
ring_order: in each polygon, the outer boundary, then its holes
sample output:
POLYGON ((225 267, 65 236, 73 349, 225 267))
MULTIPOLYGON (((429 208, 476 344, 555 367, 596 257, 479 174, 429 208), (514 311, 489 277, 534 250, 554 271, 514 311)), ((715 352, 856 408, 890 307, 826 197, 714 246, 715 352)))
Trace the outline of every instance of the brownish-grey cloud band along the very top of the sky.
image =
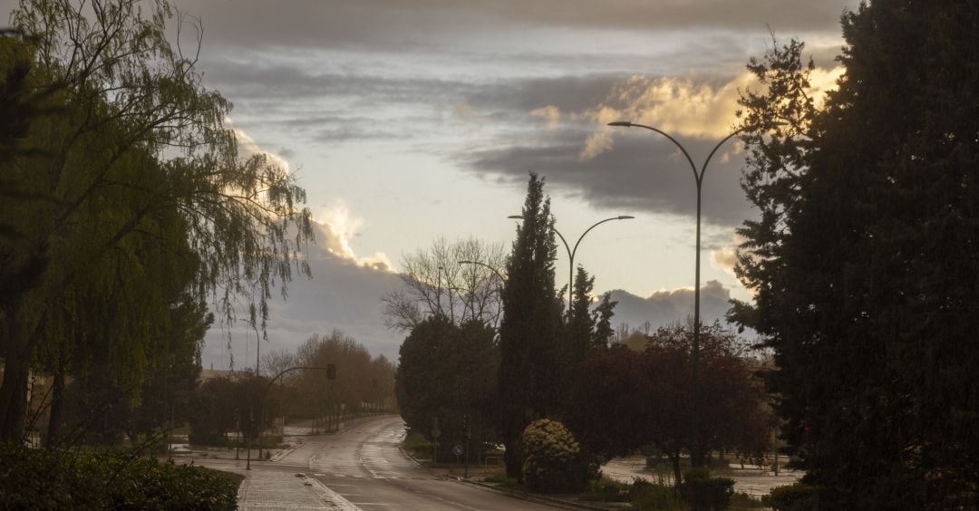
POLYGON ((856 0, 179 0, 208 40, 236 47, 306 46, 399 51, 445 47, 472 33, 564 30, 835 30, 856 0))

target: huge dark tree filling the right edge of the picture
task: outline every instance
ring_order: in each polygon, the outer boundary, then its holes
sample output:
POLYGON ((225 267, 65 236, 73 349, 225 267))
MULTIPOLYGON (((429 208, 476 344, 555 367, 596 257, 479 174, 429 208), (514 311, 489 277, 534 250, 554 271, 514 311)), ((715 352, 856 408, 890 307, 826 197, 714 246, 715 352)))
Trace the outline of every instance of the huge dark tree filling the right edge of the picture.
POLYGON ((749 65, 739 277, 778 366, 788 451, 825 508, 979 502, 979 6, 879 0, 843 17, 846 73, 809 96, 803 45, 749 65))

